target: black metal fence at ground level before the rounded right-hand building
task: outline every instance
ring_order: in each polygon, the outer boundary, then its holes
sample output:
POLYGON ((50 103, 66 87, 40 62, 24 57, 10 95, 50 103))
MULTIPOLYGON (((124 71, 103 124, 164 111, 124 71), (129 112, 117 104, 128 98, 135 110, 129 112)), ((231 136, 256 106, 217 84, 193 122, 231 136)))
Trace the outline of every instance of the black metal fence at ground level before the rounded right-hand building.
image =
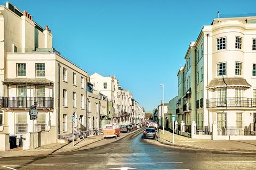
POLYGON ((248 126, 218 127, 218 135, 252 135, 248 126))

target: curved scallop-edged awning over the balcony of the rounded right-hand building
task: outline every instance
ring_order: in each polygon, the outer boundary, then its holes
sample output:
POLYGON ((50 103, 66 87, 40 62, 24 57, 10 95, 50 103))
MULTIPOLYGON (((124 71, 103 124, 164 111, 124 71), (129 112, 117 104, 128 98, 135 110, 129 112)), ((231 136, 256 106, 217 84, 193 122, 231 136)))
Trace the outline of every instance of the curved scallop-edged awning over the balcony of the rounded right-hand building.
POLYGON ((223 87, 244 87, 251 88, 252 86, 243 78, 217 78, 210 81, 206 89, 223 88, 223 87))

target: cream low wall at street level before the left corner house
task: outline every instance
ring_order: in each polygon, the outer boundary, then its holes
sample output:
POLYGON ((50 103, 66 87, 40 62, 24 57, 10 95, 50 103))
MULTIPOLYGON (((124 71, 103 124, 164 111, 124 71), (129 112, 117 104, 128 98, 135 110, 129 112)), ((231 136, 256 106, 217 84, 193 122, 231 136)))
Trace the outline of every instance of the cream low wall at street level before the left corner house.
MULTIPOLYGON (((38 148, 51 143, 56 143, 56 126, 51 126, 49 131, 34 132, 34 148, 38 148)), ((23 150, 32 149, 33 133, 26 134, 26 140, 23 141, 23 150)))

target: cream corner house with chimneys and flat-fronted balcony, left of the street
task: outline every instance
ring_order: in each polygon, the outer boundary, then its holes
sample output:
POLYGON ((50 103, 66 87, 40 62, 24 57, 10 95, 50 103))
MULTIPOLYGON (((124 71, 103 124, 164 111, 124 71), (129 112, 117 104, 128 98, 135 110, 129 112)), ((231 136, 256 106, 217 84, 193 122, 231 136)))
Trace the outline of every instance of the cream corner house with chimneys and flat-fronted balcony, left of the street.
MULTIPOLYGON (((49 27, 43 29, 27 11, 6 2, 0 6, 0 150, 32 148, 70 138, 74 116, 76 138, 86 126, 88 74, 52 47, 49 27), (29 108, 37 104, 33 126, 29 108)), ((99 96, 99 95, 98 95, 99 96)))

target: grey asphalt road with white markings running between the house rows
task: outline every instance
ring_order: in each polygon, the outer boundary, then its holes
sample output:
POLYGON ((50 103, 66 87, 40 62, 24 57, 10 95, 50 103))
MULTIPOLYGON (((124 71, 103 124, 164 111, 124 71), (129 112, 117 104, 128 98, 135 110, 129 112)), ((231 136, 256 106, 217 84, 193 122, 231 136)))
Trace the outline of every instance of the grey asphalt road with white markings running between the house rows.
POLYGON ((0 158, 0 169, 254 169, 255 154, 223 154, 156 145, 142 130, 59 155, 0 158), (107 144, 109 141, 113 143, 107 144))

